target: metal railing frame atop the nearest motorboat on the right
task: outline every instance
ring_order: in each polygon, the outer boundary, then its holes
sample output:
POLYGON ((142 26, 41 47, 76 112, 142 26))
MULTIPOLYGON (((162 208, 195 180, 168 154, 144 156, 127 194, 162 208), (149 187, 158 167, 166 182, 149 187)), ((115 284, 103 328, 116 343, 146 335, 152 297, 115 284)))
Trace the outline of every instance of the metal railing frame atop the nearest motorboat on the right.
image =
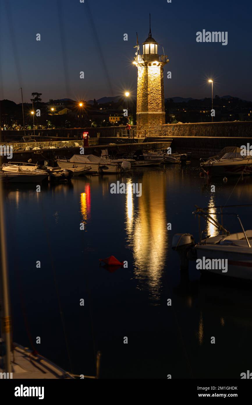
MULTIPOLYGON (((210 222, 210 224, 212 224, 215 228, 217 228, 219 231, 221 231, 223 235, 226 234, 227 236, 229 236, 230 235, 229 230, 224 228, 223 215, 233 215, 233 216, 237 217, 237 220, 238 220, 238 222, 239 222, 239 224, 241 226, 241 229, 242 229, 242 232, 243 232, 244 237, 246 239, 246 242, 248 243, 248 247, 251 247, 251 245, 250 245, 250 243, 248 241, 248 237, 246 235, 246 232, 244 230, 244 226, 242 225, 242 222, 241 222, 241 219, 240 219, 239 215, 237 213, 234 213, 234 212, 225 212, 224 213, 223 209, 224 208, 231 208, 231 207, 252 207, 252 204, 216 205, 216 206, 213 206, 213 207, 210 207, 210 208, 209 207, 201 208, 201 207, 198 207, 197 205, 195 205, 195 207, 196 207, 196 210, 193 211, 193 215, 198 215, 199 243, 200 244, 202 242, 202 234, 203 234, 203 232, 205 232, 205 230, 203 230, 201 232, 201 226, 200 226, 200 218, 201 217, 206 221, 206 223, 210 222), (216 209, 216 208, 219 208, 220 212, 209 212, 209 209, 213 210, 213 209, 216 209), (215 220, 212 215, 220 215, 221 224, 217 220, 215 220)), ((209 238, 209 236, 207 235, 206 238, 205 238, 205 243, 206 243, 206 239, 208 239, 208 238, 209 238)))

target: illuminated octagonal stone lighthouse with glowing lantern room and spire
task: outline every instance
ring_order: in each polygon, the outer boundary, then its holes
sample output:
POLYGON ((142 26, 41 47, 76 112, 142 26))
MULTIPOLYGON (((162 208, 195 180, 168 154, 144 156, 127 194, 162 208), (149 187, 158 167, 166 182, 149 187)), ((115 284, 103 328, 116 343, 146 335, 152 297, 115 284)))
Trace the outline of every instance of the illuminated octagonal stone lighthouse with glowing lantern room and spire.
POLYGON ((137 44, 133 62, 138 68, 136 120, 138 134, 144 134, 144 130, 148 134, 151 129, 153 133, 153 127, 165 124, 163 67, 169 59, 167 55, 158 54, 159 44, 152 38, 151 30, 142 45, 143 54, 139 54, 137 44))

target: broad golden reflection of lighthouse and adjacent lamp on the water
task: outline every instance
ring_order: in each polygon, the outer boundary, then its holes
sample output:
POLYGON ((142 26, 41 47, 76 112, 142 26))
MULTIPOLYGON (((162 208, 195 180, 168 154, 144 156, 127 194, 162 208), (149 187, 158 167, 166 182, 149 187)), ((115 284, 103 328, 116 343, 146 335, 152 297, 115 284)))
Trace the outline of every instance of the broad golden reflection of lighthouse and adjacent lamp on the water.
POLYGON ((128 181, 125 217, 127 242, 133 250, 138 288, 148 289, 157 301, 161 293, 161 277, 167 252, 165 213, 165 176, 145 172, 142 176, 142 196, 136 197, 128 181), (135 209, 134 209, 135 204, 135 209))

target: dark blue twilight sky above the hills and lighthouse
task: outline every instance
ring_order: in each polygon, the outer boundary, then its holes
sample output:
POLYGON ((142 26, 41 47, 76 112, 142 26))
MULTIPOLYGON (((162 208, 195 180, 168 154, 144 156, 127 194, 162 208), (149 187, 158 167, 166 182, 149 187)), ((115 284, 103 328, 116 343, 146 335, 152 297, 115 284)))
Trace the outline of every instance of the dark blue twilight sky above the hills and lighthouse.
POLYGON ((0 0, 0 99, 20 102, 21 86, 24 101, 136 94, 133 46, 136 31, 141 44, 148 36, 149 12, 170 60, 165 97, 210 97, 211 77, 214 95, 252 100, 250 0, 0 0), (227 31, 228 45, 197 43, 203 29, 227 31))

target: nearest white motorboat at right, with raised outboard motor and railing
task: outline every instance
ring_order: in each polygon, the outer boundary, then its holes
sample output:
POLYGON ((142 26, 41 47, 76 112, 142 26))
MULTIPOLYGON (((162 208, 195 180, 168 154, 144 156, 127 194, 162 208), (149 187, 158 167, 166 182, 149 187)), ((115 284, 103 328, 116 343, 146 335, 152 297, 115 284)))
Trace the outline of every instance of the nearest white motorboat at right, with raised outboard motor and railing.
POLYGON ((252 280, 252 230, 245 231, 239 216, 229 213, 229 215, 237 217, 242 231, 230 233, 215 219, 217 214, 223 215, 223 207, 214 208, 220 208, 221 212, 211 213, 197 207, 193 214, 203 217, 222 234, 213 237, 207 235, 201 239, 199 221, 199 243, 195 244, 191 234, 174 235, 172 248, 180 254, 181 266, 188 268, 188 260, 196 260, 197 258, 198 264, 201 265, 199 267, 201 271, 252 280))

